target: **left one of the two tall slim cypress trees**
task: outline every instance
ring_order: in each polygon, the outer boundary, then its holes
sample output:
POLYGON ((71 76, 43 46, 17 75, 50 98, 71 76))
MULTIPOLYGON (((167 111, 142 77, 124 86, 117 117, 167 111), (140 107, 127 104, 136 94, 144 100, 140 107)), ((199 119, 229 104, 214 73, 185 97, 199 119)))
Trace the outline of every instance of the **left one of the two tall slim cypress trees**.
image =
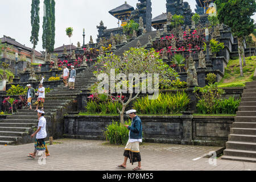
POLYGON ((39 7, 40 0, 32 0, 31 4, 31 36, 30 36, 30 42, 33 44, 33 60, 35 60, 35 47, 38 44, 38 36, 39 36, 39 28, 40 28, 40 19, 39 19, 39 7))

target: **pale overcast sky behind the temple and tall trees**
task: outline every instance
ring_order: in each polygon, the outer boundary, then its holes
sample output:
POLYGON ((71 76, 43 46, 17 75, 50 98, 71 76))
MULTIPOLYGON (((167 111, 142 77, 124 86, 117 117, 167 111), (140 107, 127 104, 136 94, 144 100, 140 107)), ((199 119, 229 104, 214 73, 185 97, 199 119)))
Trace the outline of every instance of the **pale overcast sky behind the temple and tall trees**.
MULTIPOLYGON (((71 43, 77 46, 77 42, 82 45, 82 29, 85 28, 85 44, 89 42, 90 35, 93 36, 94 43, 97 38, 96 26, 102 20, 107 28, 118 27, 118 20, 108 13, 109 10, 127 3, 134 8, 137 0, 55 0, 55 48, 69 44, 69 38, 65 33, 67 27, 73 27, 73 36, 71 43)), ((166 13, 166 0, 151 0, 152 18, 162 13, 166 13)), ((191 6, 192 12, 195 12, 196 1, 184 0, 191 6)), ((14 38, 17 42, 25 44, 32 48, 30 42, 31 23, 30 11, 31 0, 8 0, 1 1, 1 23, 0 37, 3 35, 14 38)), ((254 15, 254 19, 256 15, 254 15)), ((43 51, 42 48, 42 24, 43 24, 43 0, 40 0, 40 30, 39 42, 36 46, 37 51, 43 51)))

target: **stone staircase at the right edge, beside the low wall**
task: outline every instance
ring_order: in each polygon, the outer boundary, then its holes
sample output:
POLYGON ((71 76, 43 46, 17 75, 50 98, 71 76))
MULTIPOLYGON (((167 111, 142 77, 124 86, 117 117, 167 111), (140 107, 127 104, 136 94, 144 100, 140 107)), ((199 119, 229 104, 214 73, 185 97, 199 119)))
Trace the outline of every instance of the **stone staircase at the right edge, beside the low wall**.
POLYGON ((246 82, 221 159, 256 162, 256 81, 246 82))

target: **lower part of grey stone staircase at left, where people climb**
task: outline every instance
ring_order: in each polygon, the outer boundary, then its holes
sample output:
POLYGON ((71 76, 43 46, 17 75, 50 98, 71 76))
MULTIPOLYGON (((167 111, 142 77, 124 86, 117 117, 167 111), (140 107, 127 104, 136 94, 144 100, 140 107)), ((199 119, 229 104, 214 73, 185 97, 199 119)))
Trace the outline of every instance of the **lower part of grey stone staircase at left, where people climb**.
MULTIPOLYGON (((56 115, 58 114, 58 119, 60 121, 62 119, 63 121, 64 113, 75 109, 73 108, 74 106, 68 106, 77 100, 77 95, 80 94, 81 89, 88 88, 95 81, 96 78, 92 75, 93 70, 93 68, 86 68, 77 74, 75 89, 69 90, 63 87, 64 84, 61 84, 46 94, 44 111, 47 121, 51 121, 51 119, 56 120, 56 115)), ((13 115, 8 115, 6 119, 0 120, 0 144, 25 144, 34 142, 30 135, 38 125, 37 113, 34 111, 35 108, 36 106, 32 106, 32 110, 28 110, 28 106, 24 107, 16 111, 13 115)), ((48 125, 53 124, 48 123, 48 125)), ((51 130, 53 126, 48 127, 51 130)))

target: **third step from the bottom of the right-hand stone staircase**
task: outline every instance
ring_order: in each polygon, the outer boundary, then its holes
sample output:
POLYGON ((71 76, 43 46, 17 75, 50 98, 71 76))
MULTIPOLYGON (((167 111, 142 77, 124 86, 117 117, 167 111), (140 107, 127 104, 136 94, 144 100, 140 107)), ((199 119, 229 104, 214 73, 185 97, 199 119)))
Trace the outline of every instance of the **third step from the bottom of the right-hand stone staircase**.
POLYGON ((255 142, 228 141, 228 142, 226 142, 226 148, 234 148, 236 150, 256 151, 256 143, 255 142))

